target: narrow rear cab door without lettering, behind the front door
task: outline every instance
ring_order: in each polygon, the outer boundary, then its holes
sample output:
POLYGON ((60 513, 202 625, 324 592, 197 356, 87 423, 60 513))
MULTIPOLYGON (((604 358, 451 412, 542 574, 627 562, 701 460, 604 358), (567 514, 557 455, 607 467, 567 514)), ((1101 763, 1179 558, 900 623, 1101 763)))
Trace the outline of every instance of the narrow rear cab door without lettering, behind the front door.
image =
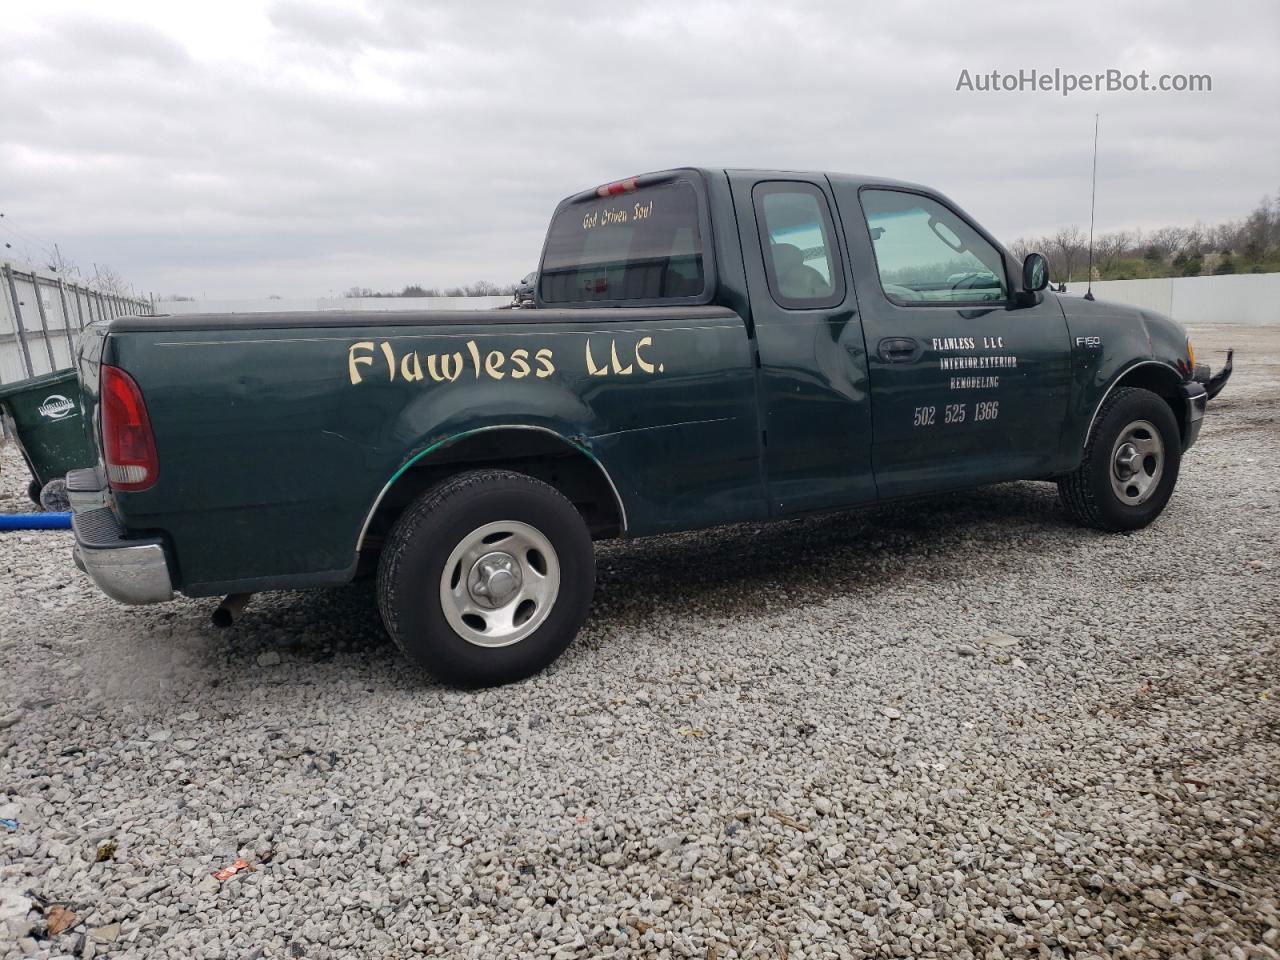
POLYGON ((876 498, 861 317, 826 177, 731 173, 771 516, 876 498))

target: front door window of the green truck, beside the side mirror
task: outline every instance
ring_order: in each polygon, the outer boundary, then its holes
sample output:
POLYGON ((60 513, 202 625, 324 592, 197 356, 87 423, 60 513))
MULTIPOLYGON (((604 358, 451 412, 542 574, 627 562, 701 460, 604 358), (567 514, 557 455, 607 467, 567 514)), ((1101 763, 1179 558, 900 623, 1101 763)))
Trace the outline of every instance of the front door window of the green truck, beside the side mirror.
POLYGON ((859 196, 881 287, 893 303, 1009 300, 1000 251, 954 210, 905 191, 864 189, 859 196))

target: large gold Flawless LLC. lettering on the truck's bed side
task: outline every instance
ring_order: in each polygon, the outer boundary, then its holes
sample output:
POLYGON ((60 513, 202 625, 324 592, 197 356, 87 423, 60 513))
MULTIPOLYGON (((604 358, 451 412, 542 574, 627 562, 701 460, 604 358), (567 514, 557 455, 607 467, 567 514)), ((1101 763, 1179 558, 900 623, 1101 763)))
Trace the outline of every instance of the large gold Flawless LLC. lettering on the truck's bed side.
MULTIPOLYGON (((584 360, 589 376, 632 376, 635 374, 660 374, 664 367, 648 356, 653 337, 641 337, 620 353, 618 338, 586 338, 584 360), (604 340, 602 343, 602 340, 604 340)), ((347 375, 352 385, 385 374, 388 383, 454 383, 465 374, 479 380, 524 380, 532 376, 544 380, 556 372, 556 352, 550 347, 512 351, 481 349, 475 340, 452 353, 397 352, 389 340, 360 340, 347 348, 347 375)))

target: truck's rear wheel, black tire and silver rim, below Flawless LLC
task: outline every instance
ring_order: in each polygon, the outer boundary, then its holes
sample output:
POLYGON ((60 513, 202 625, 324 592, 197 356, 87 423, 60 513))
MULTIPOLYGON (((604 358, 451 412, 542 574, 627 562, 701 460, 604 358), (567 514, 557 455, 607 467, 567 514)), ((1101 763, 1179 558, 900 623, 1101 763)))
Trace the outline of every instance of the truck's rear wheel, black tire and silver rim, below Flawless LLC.
POLYGON ((378 567, 387 631, 457 686, 543 669, 577 635, 594 589, 591 535, 573 504, 498 470, 458 474, 419 497, 378 567))

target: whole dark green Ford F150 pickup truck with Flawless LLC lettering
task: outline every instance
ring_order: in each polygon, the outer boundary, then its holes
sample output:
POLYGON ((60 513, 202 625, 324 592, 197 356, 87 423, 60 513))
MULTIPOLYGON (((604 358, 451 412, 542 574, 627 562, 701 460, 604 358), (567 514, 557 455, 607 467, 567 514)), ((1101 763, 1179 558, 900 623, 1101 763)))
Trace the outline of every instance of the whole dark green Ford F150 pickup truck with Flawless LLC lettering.
POLYGON ((407 657, 484 685, 573 639, 594 539, 1020 479, 1146 526, 1230 367, 1047 282, 927 187, 677 169, 562 201, 534 310, 92 324, 76 561, 224 612, 376 576, 407 657))

